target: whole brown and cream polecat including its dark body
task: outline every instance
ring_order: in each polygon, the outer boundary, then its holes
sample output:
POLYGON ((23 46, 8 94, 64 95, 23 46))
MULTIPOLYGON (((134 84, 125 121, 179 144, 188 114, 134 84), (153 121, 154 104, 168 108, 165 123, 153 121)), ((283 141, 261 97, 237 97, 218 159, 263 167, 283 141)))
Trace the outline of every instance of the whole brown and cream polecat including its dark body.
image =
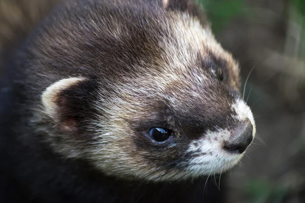
POLYGON ((64 1, 4 67, 8 202, 202 202, 193 181, 255 136, 238 64, 191 1, 64 1))

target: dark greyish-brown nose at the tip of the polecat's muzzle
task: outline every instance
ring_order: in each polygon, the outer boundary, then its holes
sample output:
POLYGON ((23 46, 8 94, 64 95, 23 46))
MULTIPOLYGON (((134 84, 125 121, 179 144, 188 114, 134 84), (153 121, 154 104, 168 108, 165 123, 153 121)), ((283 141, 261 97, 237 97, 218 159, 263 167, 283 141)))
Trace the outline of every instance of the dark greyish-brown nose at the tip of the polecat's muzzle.
POLYGON ((235 131, 234 136, 226 141, 224 144, 224 149, 229 152, 235 152, 241 154, 245 152, 247 147, 253 140, 252 136, 253 126, 249 122, 238 127, 235 131))

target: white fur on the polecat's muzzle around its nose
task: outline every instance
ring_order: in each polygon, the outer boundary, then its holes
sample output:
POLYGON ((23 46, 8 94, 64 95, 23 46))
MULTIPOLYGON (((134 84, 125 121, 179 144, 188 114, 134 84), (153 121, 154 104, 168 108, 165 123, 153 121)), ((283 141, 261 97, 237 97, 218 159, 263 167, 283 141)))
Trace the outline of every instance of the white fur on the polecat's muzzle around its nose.
MULTIPOLYGON (((253 114, 245 101, 236 99, 236 103, 231 105, 232 110, 237 115, 232 117, 238 121, 249 119, 253 125, 253 138, 256 134, 256 126, 253 114)), ((242 154, 230 154, 223 150, 223 143, 229 140, 231 132, 227 129, 208 131, 200 140, 193 141, 188 152, 199 156, 190 160, 188 170, 192 170, 195 175, 210 175, 224 172, 233 167, 243 156, 242 154)))

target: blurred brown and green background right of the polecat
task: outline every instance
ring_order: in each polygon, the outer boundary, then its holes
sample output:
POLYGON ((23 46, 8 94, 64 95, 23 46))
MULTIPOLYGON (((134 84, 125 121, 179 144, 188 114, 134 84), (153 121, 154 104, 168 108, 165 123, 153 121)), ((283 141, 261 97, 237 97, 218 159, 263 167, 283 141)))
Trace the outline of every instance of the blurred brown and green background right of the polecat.
POLYGON ((200 1, 244 85, 249 78, 257 123, 254 144, 225 177, 228 202, 305 202, 305 1, 200 1))

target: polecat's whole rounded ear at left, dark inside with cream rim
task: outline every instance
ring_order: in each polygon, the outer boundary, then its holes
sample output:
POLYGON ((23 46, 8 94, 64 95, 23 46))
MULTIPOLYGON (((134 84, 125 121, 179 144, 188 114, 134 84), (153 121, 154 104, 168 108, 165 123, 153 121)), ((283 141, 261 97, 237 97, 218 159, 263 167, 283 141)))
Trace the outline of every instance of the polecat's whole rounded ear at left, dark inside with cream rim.
POLYGON ((81 121, 88 119, 90 96, 95 84, 85 78, 59 80, 42 93, 41 99, 45 114, 50 117, 59 130, 77 131, 81 121))

